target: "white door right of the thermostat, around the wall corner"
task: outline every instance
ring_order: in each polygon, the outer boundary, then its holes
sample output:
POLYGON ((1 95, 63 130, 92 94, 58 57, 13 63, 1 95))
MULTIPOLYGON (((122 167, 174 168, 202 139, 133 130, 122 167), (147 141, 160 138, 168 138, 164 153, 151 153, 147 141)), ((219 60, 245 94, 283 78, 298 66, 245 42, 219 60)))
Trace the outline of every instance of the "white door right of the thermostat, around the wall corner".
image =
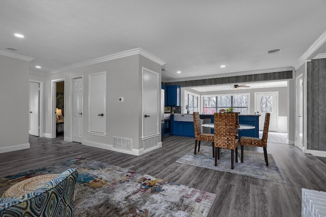
POLYGON ((158 133, 158 73, 143 68, 143 137, 158 133))

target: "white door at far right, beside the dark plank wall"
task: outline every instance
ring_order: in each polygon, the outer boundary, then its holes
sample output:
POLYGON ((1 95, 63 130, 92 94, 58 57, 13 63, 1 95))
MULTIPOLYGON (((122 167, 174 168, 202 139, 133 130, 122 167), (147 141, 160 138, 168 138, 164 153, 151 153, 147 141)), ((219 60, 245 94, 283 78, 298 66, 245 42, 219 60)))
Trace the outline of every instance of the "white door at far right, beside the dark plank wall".
POLYGON ((303 78, 296 78, 296 146, 303 149, 303 78))

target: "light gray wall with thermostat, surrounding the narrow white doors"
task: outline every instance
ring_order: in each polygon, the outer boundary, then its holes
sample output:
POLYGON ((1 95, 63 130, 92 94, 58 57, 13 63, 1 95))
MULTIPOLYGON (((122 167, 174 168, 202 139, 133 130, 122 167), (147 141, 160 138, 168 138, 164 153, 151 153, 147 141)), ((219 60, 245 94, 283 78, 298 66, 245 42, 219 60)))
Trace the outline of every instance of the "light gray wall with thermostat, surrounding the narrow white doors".
MULTIPOLYGON (((71 79, 83 76, 84 79, 84 142, 83 144, 112 149, 113 137, 132 139, 132 148, 137 152, 143 148, 142 140, 142 67, 161 73, 161 66, 141 55, 133 55, 111 61, 83 66, 63 72, 46 75, 45 79, 45 133, 51 134, 51 80, 65 79, 65 132, 64 139, 71 138, 71 79), (88 75, 106 71, 106 136, 101 137, 88 131, 88 75), (119 102, 119 97, 124 97, 119 102)), ((159 76, 160 79, 160 76, 159 76)), ((159 139, 160 141, 160 139, 159 139)))

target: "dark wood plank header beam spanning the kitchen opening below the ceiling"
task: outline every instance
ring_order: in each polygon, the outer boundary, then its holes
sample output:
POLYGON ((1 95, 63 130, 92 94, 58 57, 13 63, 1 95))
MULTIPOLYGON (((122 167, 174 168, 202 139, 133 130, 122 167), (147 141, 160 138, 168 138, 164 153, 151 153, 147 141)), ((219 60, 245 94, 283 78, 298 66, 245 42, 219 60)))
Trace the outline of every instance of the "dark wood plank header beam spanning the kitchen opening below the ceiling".
POLYGON ((240 84, 244 82, 264 82, 266 80, 292 79, 292 71, 269 72, 261 74, 238 75, 232 77, 216 77, 199 80, 185 80, 183 82, 169 82, 164 85, 180 85, 181 87, 196 87, 205 85, 240 84))

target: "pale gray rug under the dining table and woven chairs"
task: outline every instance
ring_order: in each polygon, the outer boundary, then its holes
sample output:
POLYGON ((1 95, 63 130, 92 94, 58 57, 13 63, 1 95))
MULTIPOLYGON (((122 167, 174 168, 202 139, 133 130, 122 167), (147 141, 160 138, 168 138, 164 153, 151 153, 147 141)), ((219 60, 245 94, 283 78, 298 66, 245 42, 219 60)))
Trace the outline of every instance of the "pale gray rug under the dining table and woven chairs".
POLYGON ((271 154, 268 155, 268 167, 266 167, 264 154, 244 151, 243 163, 240 162, 240 150, 238 150, 238 162, 234 159, 234 169, 231 169, 231 150, 223 150, 218 160, 218 166, 214 166, 212 157, 212 148, 208 146, 200 147, 200 152, 195 155, 194 149, 183 155, 176 162, 181 164, 204 167, 212 170, 219 170, 229 173, 235 173, 244 176, 251 176, 259 179, 286 183, 276 162, 271 154))

